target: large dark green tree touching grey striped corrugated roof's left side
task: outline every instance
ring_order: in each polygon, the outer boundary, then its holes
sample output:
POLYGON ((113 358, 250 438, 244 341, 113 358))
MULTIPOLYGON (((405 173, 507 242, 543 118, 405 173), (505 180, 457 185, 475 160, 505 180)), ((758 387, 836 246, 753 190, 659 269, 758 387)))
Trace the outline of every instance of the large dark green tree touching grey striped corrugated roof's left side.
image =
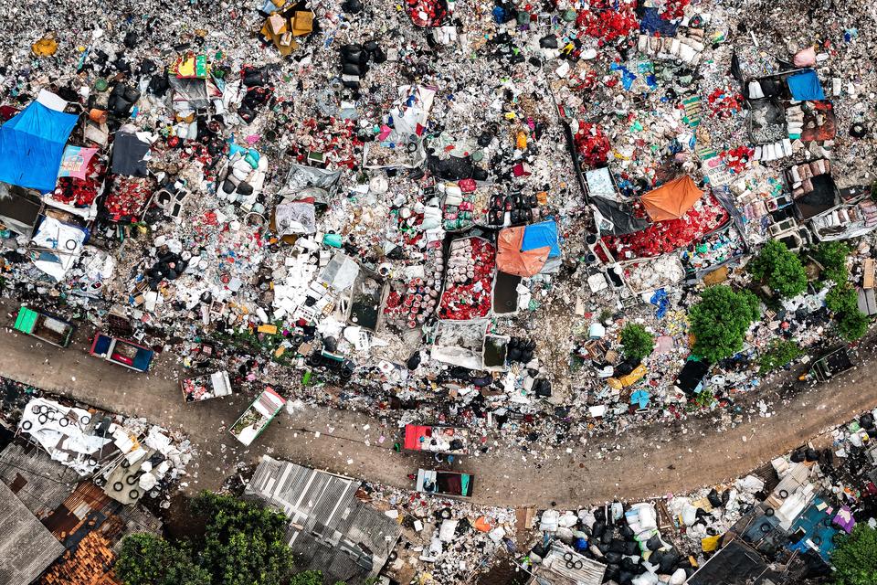
POLYGON ((204 549, 198 561, 211 574, 214 585, 279 585, 291 577, 286 516, 211 492, 195 497, 192 510, 207 516, 204 549))

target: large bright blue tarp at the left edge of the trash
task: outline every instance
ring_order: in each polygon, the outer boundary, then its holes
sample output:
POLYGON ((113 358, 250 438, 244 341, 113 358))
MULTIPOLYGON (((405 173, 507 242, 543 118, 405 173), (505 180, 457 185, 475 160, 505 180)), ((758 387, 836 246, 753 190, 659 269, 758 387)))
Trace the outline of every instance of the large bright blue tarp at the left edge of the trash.
POLYGON ((0 181, 48 193, 79 116, 33 101, 0 126, 0 181))

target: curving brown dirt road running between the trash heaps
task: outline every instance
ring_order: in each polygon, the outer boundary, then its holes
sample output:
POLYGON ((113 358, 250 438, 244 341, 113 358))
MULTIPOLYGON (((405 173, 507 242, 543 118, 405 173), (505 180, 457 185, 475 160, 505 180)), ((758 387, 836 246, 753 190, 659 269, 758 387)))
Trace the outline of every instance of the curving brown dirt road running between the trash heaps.
MULTIPOLYGON (((217 488, 238 463, 255 463, 263 453, 403 488, 411 486, 407 474, 428 461, 422 454, 394 452, 398 431, 368 415, 304 405, 282 413, 252 447, 244 448, 227 427, 252 397, 185 404, 173 356, 160 356, 152 374, 140 375, 89 356, 82 337, 62 350, 6 329, 0 332, 0 375, 184 430, 198 451, 188 490, 217 488)), ((783 406, 777 398, 771 417, 753 418, 727 431, 716 431, 715 421, 706 417, 592 439, 569 445, 571 452, 538 443, 529 452, 489 445, 489 452, 464 458, 455 467, 475 474, 473 499, 490 505, 576 507, 690 491, 745 474, 861 410, 877 407, 875 378, 871 361, 783 406), (603 455, 604 449, 611 452, 603 455)))

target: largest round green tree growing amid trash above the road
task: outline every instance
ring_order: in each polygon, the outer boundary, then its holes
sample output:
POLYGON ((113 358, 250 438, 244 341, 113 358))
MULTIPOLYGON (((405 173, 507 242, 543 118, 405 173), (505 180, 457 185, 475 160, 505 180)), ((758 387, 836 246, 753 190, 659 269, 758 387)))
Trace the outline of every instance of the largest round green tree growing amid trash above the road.
POLYGON ((689 321, 694 334, 692 350, 717 362, 743 349, 746 330, 761 315, 758 299, 748 291, 734 292, 729 286, 711 286, 692 306, 689 321))

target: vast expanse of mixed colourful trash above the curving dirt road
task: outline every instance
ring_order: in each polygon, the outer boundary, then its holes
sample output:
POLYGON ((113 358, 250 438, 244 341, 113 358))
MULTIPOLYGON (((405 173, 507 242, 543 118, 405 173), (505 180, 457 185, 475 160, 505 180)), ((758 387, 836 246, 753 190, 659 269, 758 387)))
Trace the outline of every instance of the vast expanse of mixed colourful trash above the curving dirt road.
POLYGON ((482 449, 734 424, 773 340, 834 331, 827 290, 707 364, 703 286, 848 239, 877 314, 871 6, 831 4, 36 7, 0 79, 5 287, 185 380, 482 449))

